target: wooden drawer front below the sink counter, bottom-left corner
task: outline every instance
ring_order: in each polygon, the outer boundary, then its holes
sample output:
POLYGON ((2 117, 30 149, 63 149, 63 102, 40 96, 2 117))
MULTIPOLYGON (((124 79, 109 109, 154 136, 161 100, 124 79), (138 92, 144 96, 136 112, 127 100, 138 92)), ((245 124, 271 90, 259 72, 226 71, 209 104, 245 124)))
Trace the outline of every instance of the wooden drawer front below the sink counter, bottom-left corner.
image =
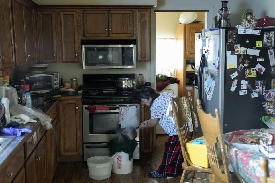
POLYGON ((20 148, 19 152, 14 156, 10 163, 0 170, 0 182, 10 183, 16 174, 24 165, 24 148, 20 148))

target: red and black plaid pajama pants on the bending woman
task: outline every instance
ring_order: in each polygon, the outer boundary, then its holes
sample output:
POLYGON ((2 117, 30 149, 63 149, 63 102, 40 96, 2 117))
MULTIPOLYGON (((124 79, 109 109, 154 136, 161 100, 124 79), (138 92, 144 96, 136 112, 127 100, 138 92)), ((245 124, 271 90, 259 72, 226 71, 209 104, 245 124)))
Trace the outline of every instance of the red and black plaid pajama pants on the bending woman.
POLYGON ((157 172, 169 177, 174 177, 176 174, 182 174, 183 169, 181 168, 181 164, 184 160, 178 135, 168 136, 164 148, 162 163, 158 167, 157 172))

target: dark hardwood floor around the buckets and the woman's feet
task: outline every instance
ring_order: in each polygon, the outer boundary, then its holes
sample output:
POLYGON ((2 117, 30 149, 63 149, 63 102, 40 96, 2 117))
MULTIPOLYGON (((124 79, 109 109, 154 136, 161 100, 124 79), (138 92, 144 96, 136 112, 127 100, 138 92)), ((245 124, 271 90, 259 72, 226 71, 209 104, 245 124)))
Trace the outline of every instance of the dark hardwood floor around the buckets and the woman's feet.
MULTIPOLYGON (((87 162, 61 162, 58 163, 52 183, 175 183, 180 182, 181 175, 168 178, 152 178, 148 176, 149 172, 158 169, 162 161, 164 152, 164 142, 167 140, 167 134, 158 134, 156 147, 151 158, 140 158, 134 160, 133 172, 129 174, 115 174, 104 180, 94 180, 89 177, 87 162)), ((195 177, 208 179, 208 174, 197 172, 195 177)), ((209 181, 195 179, 194 183, 209 183, 209 181)))

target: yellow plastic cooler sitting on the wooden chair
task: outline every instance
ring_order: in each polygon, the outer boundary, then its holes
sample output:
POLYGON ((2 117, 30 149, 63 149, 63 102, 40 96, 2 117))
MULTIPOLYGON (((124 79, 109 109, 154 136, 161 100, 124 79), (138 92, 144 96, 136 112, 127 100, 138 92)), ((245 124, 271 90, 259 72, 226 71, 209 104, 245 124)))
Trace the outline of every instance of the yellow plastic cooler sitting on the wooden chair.
MULTIPOLYGON (((203 139, 203 136, 198 138, 198 140, 203 139)), ((208 168, 210 164, 208 161, 206 144, 192 144, 191 142, 193 142, 194 140, 191 140, 185 144, 185 149, 188 153, 188 157, 194 165, 208 168)))

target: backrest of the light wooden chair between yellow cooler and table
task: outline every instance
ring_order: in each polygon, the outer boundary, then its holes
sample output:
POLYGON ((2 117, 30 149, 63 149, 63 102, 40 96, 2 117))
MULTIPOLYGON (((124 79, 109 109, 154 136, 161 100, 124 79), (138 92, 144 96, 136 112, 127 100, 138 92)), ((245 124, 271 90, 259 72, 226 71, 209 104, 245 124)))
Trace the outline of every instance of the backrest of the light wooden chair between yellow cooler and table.
POLYGON ((213 174, 222 181, 231 182, 232 178, 229 174, 225 155, 225 145, 221 128, 220 111, 218 108, 216 108, 216 117, 214 117, 212 114, 206 114, 203 111, 201 107, 201 100, 197 99, 197 104, 197 112, 205 139, 211 170, 213 174), (219 162, 219 157, 217 155, 217 148, 219 146, 218 144, 220 144, 221 148, 222 164, 221 162, 219 162))

